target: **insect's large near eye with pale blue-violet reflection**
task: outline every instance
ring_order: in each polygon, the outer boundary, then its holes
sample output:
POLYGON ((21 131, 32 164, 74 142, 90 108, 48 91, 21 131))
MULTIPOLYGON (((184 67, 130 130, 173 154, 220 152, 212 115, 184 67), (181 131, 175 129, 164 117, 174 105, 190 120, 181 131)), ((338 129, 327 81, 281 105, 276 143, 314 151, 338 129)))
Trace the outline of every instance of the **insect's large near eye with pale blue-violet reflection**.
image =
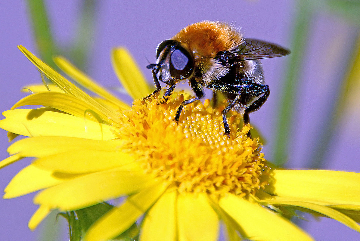
POLYGON ((194 70, 194 62, 188 51, 179 47, 170 56, 170 74, 176 79, 188 78, 194 70))

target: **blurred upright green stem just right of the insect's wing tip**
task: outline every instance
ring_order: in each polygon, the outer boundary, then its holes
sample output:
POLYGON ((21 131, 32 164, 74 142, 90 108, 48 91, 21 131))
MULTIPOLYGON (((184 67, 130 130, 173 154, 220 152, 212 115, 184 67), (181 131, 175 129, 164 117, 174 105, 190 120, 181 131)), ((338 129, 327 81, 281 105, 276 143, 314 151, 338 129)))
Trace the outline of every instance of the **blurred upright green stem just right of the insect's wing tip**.
POLYGON ((281 166, 287 161, 288 143, 293 121, 294 100, 296 99, 299 73, 308 39, 313 5, 310 1, 299 0, 297 9, 298 12, 295 20, 291 48, 292 53, 289 55, 288 72, 285 77, 282 97, 280 98, 280 113, 276 129, 276 148, 273 162, 277 166, 281 166))

